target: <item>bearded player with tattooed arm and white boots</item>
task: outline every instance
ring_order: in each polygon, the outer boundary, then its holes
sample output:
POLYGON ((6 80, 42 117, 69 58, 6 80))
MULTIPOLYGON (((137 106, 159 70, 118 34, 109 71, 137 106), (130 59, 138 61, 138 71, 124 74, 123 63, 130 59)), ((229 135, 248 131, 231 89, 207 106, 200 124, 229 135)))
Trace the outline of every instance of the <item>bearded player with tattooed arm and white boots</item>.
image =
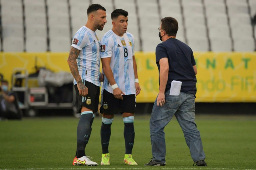
MULTIPOLYGON (((79 15, 79 14, 78 14, 79 15)), ((77 126, 77 152, 73 165, 93 166, 98 163, 86 156, 85 147, 91 134, 94 113, 98 111, 99 86, 103 75, 99 71, 101 43, 96 30, 103 30, 106 9, 99 4, 91 4, 87 9, 88 21, 75 33, 67 62, 74 77, 78 109, 81 113, 77 126)))

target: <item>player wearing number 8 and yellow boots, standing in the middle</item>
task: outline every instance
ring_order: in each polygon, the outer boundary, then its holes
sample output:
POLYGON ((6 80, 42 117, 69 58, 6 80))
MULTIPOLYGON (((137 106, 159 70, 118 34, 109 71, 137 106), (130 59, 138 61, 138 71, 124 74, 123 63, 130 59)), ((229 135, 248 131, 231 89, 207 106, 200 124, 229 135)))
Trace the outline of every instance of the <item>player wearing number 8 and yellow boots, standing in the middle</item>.
POLYGON ((134 56, 134 36, 127 31, 128 12, 115 9, 111 13, 112 29, 101 40, 101 60, 104 72, 102 84, 101 145, 102 165, 110 164, 109 141, 114 114, 119 111, 125 125, 124 164, 137 165, 131 155, 134 145, 134 113, 136 111, 136 95, 141 91, 134 56))

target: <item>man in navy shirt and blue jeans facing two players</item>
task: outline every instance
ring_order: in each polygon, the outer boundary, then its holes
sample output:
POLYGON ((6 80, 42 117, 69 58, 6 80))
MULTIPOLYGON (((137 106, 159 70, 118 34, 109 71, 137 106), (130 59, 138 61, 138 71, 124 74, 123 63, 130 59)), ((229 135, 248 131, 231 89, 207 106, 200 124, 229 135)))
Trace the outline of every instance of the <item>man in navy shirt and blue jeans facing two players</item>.
POLYGON ((150 119, 150 137, 153 158, 150 166, 166 165, 164 128, 175 115, 182 128, 195 166, 206 166, 200 132, 195 124, 195 94, 197 92, 197 67, 193 51, 176 39, 178 22, 175 18, 161 19, 158 28, 162 43, 155 49, 159 70, 159 93, 150 119), (171 82, 182 82, 179 95, 170 95, 171 82))

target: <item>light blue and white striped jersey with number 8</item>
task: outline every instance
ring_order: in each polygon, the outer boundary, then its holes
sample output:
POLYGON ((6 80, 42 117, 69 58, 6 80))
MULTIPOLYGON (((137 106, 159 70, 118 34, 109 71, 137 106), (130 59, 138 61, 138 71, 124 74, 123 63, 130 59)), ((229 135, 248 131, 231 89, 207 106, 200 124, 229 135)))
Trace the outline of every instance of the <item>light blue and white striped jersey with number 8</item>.
MULTIPOLYGON (((101 44, 101 58, 111 57, 110 67, 118 87, 126 95, 135 94, 133 69, 134 36, 126 32, 120 37, 110 30, 103 36, 101 44)), ((106 76, 104 76, 102 84, 103 89, 113 93, 106 76)))

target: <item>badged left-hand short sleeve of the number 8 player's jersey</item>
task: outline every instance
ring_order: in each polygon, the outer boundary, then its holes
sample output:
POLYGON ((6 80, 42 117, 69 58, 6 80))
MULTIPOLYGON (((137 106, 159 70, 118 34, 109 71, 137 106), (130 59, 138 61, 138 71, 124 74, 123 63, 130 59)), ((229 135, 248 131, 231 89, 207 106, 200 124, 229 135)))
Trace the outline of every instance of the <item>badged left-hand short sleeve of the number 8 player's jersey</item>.
POLYGON ((112 57, 113 42, 110 37, 103 37, 101 40, 101 58, 112 57))

